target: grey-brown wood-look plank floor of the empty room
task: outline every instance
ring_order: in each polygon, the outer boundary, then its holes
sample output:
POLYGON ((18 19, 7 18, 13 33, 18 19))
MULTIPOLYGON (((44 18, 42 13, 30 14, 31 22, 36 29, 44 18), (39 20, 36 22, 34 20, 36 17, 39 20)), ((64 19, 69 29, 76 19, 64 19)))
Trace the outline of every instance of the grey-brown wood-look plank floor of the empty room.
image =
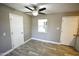
POLYGON ((79 56, 72 47, 30 40, 6 56, 79 56))

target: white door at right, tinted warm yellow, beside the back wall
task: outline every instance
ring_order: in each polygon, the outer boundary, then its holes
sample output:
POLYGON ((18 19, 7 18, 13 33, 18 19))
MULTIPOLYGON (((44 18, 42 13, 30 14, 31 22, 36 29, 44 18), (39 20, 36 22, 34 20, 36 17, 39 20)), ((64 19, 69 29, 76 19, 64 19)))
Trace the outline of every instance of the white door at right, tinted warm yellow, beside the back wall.
POLYGON ((64 45, 73 46, 78 29, 78 16, 67 16, 62 18, 60 42, 64 45))

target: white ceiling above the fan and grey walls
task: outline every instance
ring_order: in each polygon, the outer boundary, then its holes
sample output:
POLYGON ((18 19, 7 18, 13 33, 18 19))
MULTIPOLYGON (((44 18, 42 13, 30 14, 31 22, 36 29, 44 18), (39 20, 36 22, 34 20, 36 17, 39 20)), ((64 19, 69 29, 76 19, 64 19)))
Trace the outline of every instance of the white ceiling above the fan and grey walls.
MULTIPOLYGON (((5 3, 5 5, 22 12, 30 12, 24 6, 32 6, 29 3, 5 3)), ((79 3, 37 3, 34 5, 40 8, 46 7, 46 11, 43 11, 46 14, 79 11, 79 3)))

